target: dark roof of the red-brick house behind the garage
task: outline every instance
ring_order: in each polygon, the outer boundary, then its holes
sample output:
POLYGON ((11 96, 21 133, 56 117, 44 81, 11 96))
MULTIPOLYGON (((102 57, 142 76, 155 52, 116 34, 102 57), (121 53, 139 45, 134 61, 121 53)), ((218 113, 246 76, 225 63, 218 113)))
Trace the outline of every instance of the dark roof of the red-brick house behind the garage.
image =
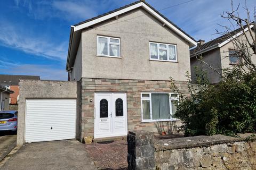
POLYGON ((0 74, 0 84, 4 84, 4 85, 19 85, 19 82, 21 79, 22 80, 40 80, 40 76, 0 74))

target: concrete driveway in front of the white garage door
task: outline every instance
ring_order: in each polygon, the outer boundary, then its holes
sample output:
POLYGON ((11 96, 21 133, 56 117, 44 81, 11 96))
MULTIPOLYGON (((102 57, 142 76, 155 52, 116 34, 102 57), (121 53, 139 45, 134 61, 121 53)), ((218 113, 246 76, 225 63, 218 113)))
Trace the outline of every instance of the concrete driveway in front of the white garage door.
POLYGON ((0 169, 97 169, 84 147, 77 140, 27 143, 0 169))

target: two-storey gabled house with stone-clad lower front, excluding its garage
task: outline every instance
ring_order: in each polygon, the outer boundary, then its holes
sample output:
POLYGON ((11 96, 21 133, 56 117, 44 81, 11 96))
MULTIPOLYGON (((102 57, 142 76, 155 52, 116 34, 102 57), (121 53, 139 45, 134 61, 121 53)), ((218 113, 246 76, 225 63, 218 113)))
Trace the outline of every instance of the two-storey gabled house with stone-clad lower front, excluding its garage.
POLYGON ((174 133, 178 94, 188 93, 189 48, 196 41, 145 1, 71 26, 66 70, 79 88, 79 137, 129 130, 174 133))

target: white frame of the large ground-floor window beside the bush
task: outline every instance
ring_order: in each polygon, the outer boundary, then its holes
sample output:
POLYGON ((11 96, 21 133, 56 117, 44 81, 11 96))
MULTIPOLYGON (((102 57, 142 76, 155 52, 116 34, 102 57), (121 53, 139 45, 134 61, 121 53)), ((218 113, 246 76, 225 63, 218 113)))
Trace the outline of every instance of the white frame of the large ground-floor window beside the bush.
POLYGON ((178 100, 178 105, 179 105, 179 94, 176 92, 141 92, 141 122, 165 122, 165 121, 179 121, 177 118, 173 118, 172 113, 172 100, 178 100), (149 97, 142 97, 143 94, 149 94, 149 97), (151 101, 151 94, 168 94, 169 95, 169 107, 170 107, 170 119, 160 119, 160 120, 153 120, 153 115, 152 115, 152 101, 151 101), (171 95, 177 95, 177 97, 171 97, 171 95), (142 101, 143 100, 149 100, 149 111, 150 111, 150 119, 143 120, 143 105, 142 101))

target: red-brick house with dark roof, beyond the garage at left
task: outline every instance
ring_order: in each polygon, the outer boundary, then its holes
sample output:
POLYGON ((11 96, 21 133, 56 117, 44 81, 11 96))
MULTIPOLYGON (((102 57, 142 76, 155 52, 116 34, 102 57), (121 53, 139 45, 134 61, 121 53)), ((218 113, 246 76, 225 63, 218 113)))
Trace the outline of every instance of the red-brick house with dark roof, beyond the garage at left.
POLYGON ((0 84, 2 86, 9 88, 14 91, 10 94, 9 103, 12 105, 18 104, 19 101, 19 81, 21 79, 27 80, 40 80, 39 76, 35 75, 9 75, 9 74, 0 74, 0 84))

